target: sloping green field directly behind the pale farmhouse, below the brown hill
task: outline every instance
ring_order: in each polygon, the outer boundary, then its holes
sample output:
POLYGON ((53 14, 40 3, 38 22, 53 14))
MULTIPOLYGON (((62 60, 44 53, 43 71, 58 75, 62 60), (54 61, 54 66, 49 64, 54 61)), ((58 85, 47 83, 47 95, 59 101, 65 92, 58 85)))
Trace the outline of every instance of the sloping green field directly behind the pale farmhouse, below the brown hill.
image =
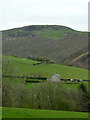
POLYGON ((32 76, 32 77, 50 77, 55 73, 61 75, 61 78, 72 78, 72 79, 85 79, 88 80, 88 70, 76 67, 70 67, 59 64, 45 64, 33 65, 39 63, 37 61, 3 56, 3 67, 4 64, 8 64, 8 70, 11 72, 8 75, 18 76, 32 76))

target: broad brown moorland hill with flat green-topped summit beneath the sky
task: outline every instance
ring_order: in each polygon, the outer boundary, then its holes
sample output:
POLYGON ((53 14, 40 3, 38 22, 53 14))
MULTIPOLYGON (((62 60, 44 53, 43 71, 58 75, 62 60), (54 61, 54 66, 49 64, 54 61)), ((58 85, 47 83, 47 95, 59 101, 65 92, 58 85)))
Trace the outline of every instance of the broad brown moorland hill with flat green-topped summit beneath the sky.
MULTIPOLYGON (((3 33, 3 54, 19 57, 46 57, 57 64, 87 68, 75 58, 88 51, 88 33, 65 26, 34 25, 3 33)), ((82 61, 81 61, 82 63, 82 61)))

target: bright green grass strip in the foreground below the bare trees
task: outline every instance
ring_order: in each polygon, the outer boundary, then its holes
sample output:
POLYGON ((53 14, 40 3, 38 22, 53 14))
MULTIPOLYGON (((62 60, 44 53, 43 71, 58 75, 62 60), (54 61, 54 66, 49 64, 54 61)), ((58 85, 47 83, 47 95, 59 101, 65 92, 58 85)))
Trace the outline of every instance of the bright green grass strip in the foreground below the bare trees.
POLYGON ((3 118, 88 118, 88 113, 4 107, 2 116, 3 118))

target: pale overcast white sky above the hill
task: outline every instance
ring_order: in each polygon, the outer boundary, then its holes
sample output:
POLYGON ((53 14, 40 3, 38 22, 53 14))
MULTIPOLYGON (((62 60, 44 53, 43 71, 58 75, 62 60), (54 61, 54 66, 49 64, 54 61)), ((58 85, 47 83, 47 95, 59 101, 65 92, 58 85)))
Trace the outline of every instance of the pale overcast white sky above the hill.
POLYGON ((64 25, 88 31, 89 0, 0 0, 0 30, 64 25))

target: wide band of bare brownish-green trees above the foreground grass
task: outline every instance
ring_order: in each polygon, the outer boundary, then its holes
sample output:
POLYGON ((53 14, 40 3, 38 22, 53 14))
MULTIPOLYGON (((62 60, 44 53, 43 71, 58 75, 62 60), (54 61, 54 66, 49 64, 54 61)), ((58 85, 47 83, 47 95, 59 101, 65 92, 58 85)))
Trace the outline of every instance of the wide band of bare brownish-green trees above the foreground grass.
MULTIPOLYGON (((12 80, 13 81, 13 80, 12 80)), ((83 92, 63 87, 63 82, 41 82, 32 87, 3 82, 2 105, 31 109, 84 111, 83 92), (82 100, 81 100, 82 99, 82 100), (81 101, 83 104, 81 104, 81 101)))

